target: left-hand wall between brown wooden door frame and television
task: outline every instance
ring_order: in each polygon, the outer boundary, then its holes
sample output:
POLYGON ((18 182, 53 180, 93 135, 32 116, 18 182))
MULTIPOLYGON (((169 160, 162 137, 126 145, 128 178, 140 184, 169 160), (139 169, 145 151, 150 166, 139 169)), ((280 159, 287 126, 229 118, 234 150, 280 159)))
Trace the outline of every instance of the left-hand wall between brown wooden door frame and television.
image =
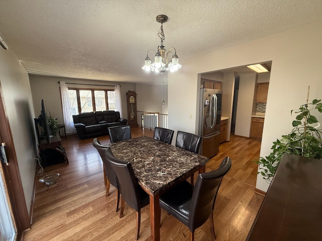
POLYGON ((27 210, 30 207, 36 170, 37 145, 34 129, 34 109, 26 70, 9 48, 0 47, 0 82, 11 134, 15 146, 22 192, 27 210))

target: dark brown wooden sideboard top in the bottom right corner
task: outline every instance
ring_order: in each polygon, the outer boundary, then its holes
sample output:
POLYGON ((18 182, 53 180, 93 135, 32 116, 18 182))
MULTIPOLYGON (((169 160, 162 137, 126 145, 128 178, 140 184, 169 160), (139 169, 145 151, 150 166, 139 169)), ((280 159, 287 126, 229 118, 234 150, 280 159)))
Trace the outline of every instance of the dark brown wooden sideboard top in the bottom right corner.
POLYGON ((322 160, 283 156, 246 240, 322 240, 322 160))

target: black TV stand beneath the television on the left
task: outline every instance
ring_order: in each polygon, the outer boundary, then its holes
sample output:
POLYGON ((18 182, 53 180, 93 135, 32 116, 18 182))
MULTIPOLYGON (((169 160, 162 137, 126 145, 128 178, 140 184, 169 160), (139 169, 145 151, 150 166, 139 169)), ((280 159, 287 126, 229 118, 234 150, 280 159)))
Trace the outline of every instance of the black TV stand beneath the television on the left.
POLYGON ((40 140, 39 142, 39 150, 44 167, 49 166, 48 164, 53 165, 62 161, 65 161, 68 164, 68 158, 65 149, 61 144, 59 133, 54 137, 50 137, 49 141, 49 144, 47 143, 47 140, 40 140))

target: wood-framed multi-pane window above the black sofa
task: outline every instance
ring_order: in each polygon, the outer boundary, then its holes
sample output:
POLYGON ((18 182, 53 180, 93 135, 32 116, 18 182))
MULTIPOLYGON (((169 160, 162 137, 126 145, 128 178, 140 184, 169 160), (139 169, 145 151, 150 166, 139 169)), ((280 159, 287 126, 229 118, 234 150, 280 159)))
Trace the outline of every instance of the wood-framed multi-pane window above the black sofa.
POLYGON ((100 110, 115 110, 114 89, 68 88, 72 114, 100 110))

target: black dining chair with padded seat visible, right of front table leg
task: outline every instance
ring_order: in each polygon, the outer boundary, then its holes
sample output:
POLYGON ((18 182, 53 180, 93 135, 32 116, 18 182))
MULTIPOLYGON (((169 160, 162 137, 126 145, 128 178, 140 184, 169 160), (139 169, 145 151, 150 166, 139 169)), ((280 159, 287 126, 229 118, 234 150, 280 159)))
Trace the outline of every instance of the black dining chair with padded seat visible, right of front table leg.
POLYGON ((183 181, 160 196, 160 207, 189 227, 190 240, 195 230, 209 218, 210 230, 216 238, 213 212, 223 176, 231 167, 230 157, 225 157, 218 169, 198 175, 196 185, 183 181))

